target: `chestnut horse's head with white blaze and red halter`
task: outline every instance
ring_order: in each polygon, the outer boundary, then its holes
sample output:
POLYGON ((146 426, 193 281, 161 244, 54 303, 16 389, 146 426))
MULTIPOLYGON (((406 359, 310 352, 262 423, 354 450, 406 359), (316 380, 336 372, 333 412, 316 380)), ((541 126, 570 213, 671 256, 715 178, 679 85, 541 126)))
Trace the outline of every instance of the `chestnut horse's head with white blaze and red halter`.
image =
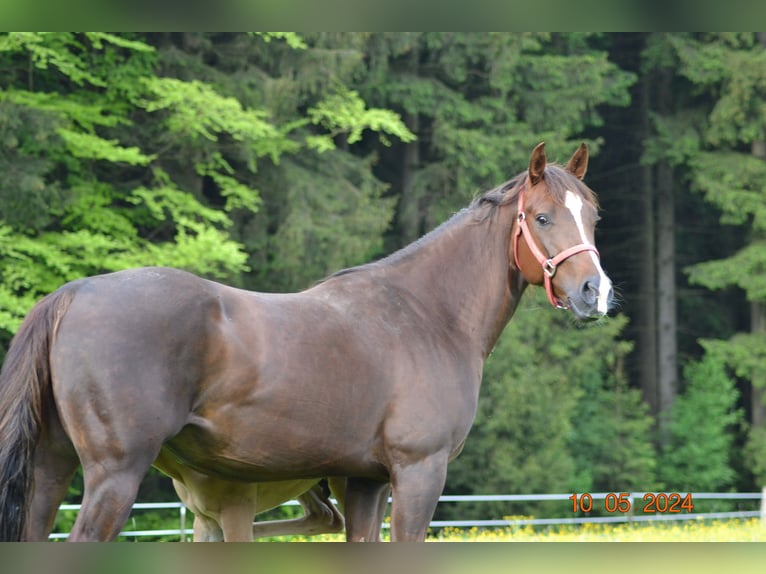
POLYGON ((553 306, 594 319, 607 313, 613 292, 593 239, 595 195, 582 182, 588 148, 580 145, 560 167, 547 164, 544 146, 532 152, 519 189, 512 261, 528 282, 545 284, 553 306))

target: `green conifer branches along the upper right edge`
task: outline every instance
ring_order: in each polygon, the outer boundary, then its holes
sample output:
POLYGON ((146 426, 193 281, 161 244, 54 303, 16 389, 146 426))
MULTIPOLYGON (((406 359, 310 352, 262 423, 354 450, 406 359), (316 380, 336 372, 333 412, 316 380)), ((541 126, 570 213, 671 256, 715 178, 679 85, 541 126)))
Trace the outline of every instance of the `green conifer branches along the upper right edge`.
POLYGON ((693 282, 711 289, 737 285, 750 300, 766 298, 762 246, 766 231, 766 202, 762 182, 766 163, 752 146, 766 141, 766 48, 752 34, 682 34, 671 37, 679 70, 700 92, 716 97, 699 125, 696 153, 690 157, 692 186, 721 211, 724 224, 743 225, 749 244, 733 257, 695 265, 693 282), (756 73, 757 72, 757 73, 756 73))

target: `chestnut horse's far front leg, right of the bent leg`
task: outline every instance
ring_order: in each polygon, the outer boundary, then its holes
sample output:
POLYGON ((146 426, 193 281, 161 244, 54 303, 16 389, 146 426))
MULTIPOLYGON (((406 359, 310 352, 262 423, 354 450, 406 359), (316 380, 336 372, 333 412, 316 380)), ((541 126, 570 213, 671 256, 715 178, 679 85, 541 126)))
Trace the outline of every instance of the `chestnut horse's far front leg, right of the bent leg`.
POLYGON ((391 486, 369 478, 349 478, 346 481, 344 511, 346 540, 349 542, 378 542, 383 515, 391 486))

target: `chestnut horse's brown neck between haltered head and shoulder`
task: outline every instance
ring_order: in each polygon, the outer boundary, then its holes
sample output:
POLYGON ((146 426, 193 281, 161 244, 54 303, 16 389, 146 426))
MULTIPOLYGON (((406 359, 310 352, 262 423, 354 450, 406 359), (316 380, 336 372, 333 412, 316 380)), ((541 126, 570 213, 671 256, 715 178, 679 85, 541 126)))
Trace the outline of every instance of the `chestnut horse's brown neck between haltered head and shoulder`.
POLYGON ((391 277, 486 358, 526 283, 509 275, 508 214, 481 222, 473 221, 470 212, 456 218, 393 262, 391 277))

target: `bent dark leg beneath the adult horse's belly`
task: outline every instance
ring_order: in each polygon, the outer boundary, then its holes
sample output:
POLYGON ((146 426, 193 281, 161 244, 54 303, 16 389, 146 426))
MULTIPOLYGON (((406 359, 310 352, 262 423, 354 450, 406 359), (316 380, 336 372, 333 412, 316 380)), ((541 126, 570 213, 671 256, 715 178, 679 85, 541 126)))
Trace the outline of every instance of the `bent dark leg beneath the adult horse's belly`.
MULTIPOLYGON (((266 489, 269 484, 261 483, 258 486, 266 489)), ((289 520, 256 522, 253 524, 253 538, 290 534, 313 536, 343 531, 343 516, 325 494, 321 485, 315 484, 297 499, 303 507, 303 516, 289 520)))

